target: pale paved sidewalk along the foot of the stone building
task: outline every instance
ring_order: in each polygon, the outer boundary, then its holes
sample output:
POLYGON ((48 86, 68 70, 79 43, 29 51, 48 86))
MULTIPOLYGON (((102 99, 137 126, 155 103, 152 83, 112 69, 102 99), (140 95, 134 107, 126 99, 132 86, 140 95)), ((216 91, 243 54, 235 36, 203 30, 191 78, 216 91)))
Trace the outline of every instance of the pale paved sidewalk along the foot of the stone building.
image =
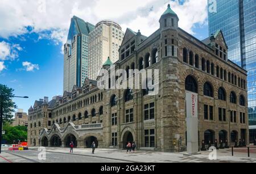
MULTIPOLYGON (((38 150, 38 147, 31 147, 30 150, 38 150)), ((63 154, 69 154, 69 148, 54 148, 46 147, 48 152, 58 152, 63 154)), ((229 150, 218 150, 217 160, 209 160, 209 151, 203 151, 200 155, 195 156, 184 156, 185 152, 182 153, 168 153, 168 152, 154 152, 154 151, 135 151, 134 153, 126 153, 124 150, 115 149, 96 149, 95 154, 92 154, 90 148, 80 149, 75 148, 75 155, 94 156, 106 159, 125 160, 127 162, 137 163, 185 163, 185 162, 245 162, 245 163, 256 163, 256 154, 251 154, 251 157, 247 157, 247 153, 238 152, 237 150, 244 150, 244 148, 237 148, 234 152, 234 156, 231 155, 231 149, 229 150)))

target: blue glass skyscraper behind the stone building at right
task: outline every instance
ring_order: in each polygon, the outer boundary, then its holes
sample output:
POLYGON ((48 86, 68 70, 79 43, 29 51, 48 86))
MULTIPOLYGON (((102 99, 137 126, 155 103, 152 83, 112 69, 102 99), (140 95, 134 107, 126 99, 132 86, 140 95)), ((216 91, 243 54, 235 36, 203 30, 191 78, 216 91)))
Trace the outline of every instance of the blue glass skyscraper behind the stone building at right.
POLYGON ((208 11, 209 35, 221 29, 229 60, 248 71, 249 120, 256 121, 256 0, 213 0, 208 11))

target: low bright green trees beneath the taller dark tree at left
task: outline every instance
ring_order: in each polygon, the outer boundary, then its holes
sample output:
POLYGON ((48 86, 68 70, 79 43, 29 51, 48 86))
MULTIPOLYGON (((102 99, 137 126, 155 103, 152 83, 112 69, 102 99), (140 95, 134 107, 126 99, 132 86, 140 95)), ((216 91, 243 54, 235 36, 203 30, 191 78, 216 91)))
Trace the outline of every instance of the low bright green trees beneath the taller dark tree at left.
POLYGON ((17 143, 18 141, 27 141, 27 128, 26 126, 15 126, 12 127, 9 122, 3 125, 5 135, 3 135, 3 142, 7 144, 17 143))

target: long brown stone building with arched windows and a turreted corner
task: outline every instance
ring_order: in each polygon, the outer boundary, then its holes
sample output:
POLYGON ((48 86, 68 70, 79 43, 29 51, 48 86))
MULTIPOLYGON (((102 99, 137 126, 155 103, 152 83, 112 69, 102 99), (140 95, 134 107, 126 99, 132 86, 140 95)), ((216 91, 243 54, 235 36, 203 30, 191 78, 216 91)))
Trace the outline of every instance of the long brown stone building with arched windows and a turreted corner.
MULTIPOLYGON (((149 88, 100 90, 96 81, 86 79, 62 97, 35 101, 28 111, 28 144, 67 147, 73 141, 86 148, 95 141, 98 147, 123 148, 135 141, 143 150, 185 150, 188 91, 199 98, 200 144, 249 143, 247 72, 228 60, 222 32, 196 39, 178 27, 170 5, 159 23, 149 37, 127 29, 114 63, 115 69, 158 69, 158 84, 156 77, 147 79, 159 86, 158 95, 148 95, 149 88)), ((111 64, 103 68, 110 70, 111 64)))

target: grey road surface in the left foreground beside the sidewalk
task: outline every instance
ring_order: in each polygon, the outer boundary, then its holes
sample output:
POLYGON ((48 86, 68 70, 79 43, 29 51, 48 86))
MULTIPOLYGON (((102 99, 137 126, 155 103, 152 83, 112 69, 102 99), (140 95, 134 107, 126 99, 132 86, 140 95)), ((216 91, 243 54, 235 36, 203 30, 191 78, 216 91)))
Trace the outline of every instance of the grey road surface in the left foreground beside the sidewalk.
POLYGON ((121 160, 46 152, 46 160, 39 160, 38 151, 3 151, 0 163, 127 163, 121 160))

